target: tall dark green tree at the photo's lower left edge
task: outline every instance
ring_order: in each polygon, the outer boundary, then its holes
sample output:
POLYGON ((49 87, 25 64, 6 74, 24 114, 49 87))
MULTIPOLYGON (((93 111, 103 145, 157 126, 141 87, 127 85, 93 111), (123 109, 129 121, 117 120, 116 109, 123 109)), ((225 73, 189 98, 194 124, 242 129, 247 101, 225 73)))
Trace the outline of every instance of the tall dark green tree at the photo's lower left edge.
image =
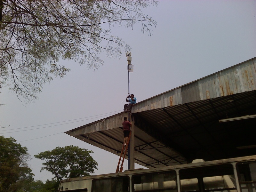
POLYGON ((0 136, 1 192, 16 192, 33 181, 34 174, 27 163, 28 149, 15 142, 12 137, 0 136))

